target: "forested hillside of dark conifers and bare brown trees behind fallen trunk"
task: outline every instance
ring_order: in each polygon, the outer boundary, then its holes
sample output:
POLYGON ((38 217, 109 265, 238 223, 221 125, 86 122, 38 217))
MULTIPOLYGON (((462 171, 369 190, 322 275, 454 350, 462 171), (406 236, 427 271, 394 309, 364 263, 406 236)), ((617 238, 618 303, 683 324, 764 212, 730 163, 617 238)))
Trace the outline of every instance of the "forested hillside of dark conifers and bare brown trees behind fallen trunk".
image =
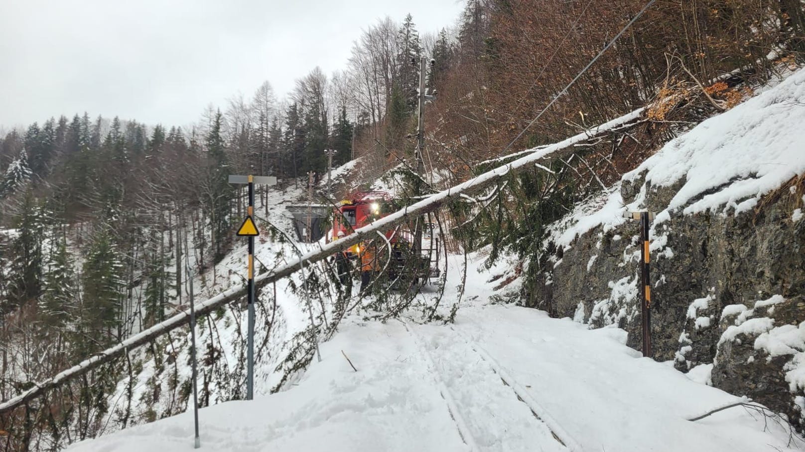
MULTIPOLYGON (((489 265, 513 253, 520 264, 501 286, 522 277, 518 295, 533 297, 544 275, 524 269, 574 203, 805 63, 802 0, 656 0, 629 25, 647 4, 467 0, 436 33, 420 33, 411 15, 366 24, 344 70, 312 68, 279 96, 266 81, 192 125, 54 112, 0 126, 0 401, 183 310, 188 255, 201 292, 229 286, 217 264, 233 249, 245 194, 228 175, 275 175, 279 190, 307 195, 312 173, 320 203, 413 176, 419 55, 432 61, 436 96, 425 113, 428 192, 645 108, 444 209, 452 251, 489 247, 489 265), (328 150, 333 167, 356 161, 336 193, 324 184, 328 150)), ((415 185, 404 199, 419 195, 415 185)), ((277 193, 258 191, 260 215, 277 193)))

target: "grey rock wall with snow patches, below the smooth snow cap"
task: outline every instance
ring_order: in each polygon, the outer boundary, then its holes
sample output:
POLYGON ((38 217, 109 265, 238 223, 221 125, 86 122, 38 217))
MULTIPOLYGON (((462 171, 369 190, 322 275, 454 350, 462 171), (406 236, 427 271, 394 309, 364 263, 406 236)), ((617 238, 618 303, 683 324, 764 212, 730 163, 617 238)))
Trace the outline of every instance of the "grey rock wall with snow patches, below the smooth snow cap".
MULTIPOLYGON (((639 175, 588 205, 594 211, 619 195, 621 206, 639 198, 648 210, 663 212, 684 183, 652 187, 639 175)), ((738 200, 723 210, 690 215, 678 209, 655 222, 651 232, 654 359, 674 360, 683 372, 711 364, 712 385, 786 413, 800 428, 803 192, 800 176, 750 203, 738 200)), ((576 217, 583 211, 577 209, 576 217)), ((638 222, 621 220, 589 229, 569 244, 547 244, 550 252, 528 270, 538 284, 526 303, 591 327, 624 328, 630 347, 641 349, 638 241, 638 222)))

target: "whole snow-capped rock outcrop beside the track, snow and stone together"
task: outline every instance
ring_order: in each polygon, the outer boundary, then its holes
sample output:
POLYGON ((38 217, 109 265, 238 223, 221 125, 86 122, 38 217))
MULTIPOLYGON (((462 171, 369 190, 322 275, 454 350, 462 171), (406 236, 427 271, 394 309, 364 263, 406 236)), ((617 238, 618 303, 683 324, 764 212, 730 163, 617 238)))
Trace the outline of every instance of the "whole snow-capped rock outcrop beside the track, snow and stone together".
POLYGON ((630 346, 639 348, 639 299, 619 297, 624 285, 616 284, 634 281, 638 288, 639 227, 622 214, 656 212, 650 229, 654 358, 675 360, 685 371, 715 363, 716 387, 799 418, 794 400, 805 400, 805 393, 789 392, 785 379, 805 386, 799 366, 805 357, 767 357, 799 350, 795 335, 805 321, 805 305, 792 307, 805 296, 805 255, 791 252, 805 247, 801 182, 776 192, 805 174, 805 140, 798 133, 805 124, 805 70, 758 92, 668 142, 556 222, 549 240, 563 250, 563 260, 539 268, 551 287, 535 290, 529 302, 559 317, 584 312, 589 326, 623 327, 630 346))

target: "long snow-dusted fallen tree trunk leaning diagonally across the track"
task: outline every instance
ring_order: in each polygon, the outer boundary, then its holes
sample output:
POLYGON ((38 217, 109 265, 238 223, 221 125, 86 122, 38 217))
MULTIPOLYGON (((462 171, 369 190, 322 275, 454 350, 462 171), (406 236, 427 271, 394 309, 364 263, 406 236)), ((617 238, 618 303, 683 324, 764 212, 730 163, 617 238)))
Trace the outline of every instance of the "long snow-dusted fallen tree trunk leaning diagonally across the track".
MULTIPOLYGON (((588 129, 581 134, 568 138, 563 142, 558 142, 551 146, 540 146, 539 148, 536 148, 534 152, 526 154, 512 162, 506 163, 502 166, 497 166, 495 169, 478 175, 477 177, 464 183, 460 183, 455 187, 450 187, 447 190, 430 195, 427 198, 422 199, 417 203, 413 203, 406 208, 400 209, 398 212, 394 212, 389 216, 383 217, 372 224, 364 226, 363 228, 357 228, 353 233, 349 234, 349 236, 342 237, 339 240, 325 244, 324 246, 320 246, 320 249, 304 254, 303 256, 299 257, 299 261, 283 265, 282 267, 275 269, 273 272, 258 275, 254 278, 254 284, 256 287, 262 287, 266 284, 279 281, 283 277, 290 276, 298 271, 301 268, 303 261, 307 261, 308 265, 316 263, 328 256, 332 256, 335 253, 349 248, 353 244, 357 244, 365 240, 366 236, 372 235, 374 238, 375 231, 386 231, 390 228, 396 227, 398 224, 403 224, 408 220, 411 220, 411 217, 420 216, 427 212, 433 212, 437 208, 440 208, 445 201, 452 197, 462 194, 466 195, 468 193, 472 193, 473 191, 483 190, 485 187, 488 187, 490 183, 493 183, 497 179, 509 174, 509 172, 512 170, 529 164, 535 164, 535 162, 537 162, 539 159, 548 157, 549 154, 554 154, 560 150, 565 150, 566 148, 569 148, 577 143, 584 142, 590 138, 596 138, 597 136, 608 133, 613 129, 628 125, 631 122, 638 120, 638 118, 641 117, 643 110, 644 109, 642 108, 634 110, 633 112, 624 116, 617 117, 613 121, 606 122, 605 124, 599 125, 596 128, 588 129)), ((216 297, 209 298, 196 305, 196 315, 209 314, 213 310, 216 310, 217 308, 244 296, 246 296, 246 286, 226 290, 225 292, 218 294, 216 297)), ((76 366, 68 368, 67 370, 60 372, 48 380, 35 384, 33 388, 22 392, 18 396, 0 403, 0 414, 9 413, 16 408, 25 405, 27 402, 32 401, 36 397, 42 396, 50 389, 57 388, 60 386, 60 384, 72 380, 77 376, 85 375, 85 373, 89 372, 90 370, 117 359, 119 356, 127 353, 131 349, 149 343, 151 340, 156 339, 157 337, 166 334, 169 331, 173 331, 176 328, 183 327, 188 323, 190 323, 189 310, 176 314, 162 323, 158 323, 147 330, 131 336, 129 339, 118 343, 118 345, 115 345, 114 347, 110 347, 105 351, 101 351, 97 355, 91 356, 89 359, 82 361, 81 364, 77 364, 76 366)))

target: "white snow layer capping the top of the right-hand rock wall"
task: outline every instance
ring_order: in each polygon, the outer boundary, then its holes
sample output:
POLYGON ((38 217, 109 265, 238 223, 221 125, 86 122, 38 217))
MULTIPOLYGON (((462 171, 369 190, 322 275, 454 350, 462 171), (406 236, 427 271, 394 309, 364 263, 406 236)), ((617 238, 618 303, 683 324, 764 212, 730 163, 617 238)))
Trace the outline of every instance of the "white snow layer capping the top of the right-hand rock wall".
MULTIPOLYGON (((623 181, 642 183, 634 202, 624 204, 621 184, 580 204, 554 228, 555 244, 568 247, 577 236, 603 226, 607 232, 625 223, 623 212, 646 208, 649 188, 681 184, 671 203, 652 224, 651 250, 664 249, 660 225, 671 216, 700 212, 737 215, 783 183, 805 173, 805 69, 788 76, 757 97, 712 117, 669 142, 623 181)), ((799 209, 798 209, 799 210, 799 209)), ((791 212, 799 220, 799 212, 791 212)))

